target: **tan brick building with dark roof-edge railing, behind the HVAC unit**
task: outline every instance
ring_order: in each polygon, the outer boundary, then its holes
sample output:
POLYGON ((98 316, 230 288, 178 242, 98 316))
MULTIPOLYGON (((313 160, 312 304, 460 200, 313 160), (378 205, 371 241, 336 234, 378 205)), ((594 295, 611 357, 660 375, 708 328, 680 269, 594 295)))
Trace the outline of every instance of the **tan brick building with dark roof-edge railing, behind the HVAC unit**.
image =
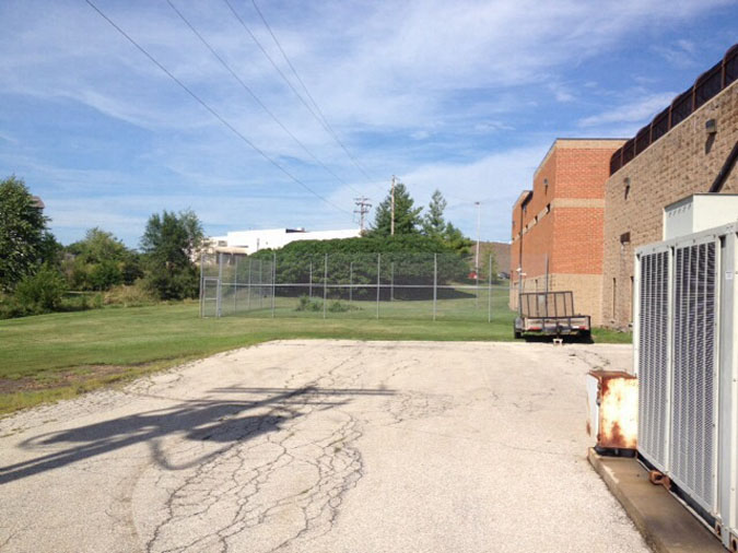
POLYGON ((734 46, 613 154, 605 197, 605 326, 631 323, 634 249, 661 240, 664 208, 692 193, 738 192, 737 77, 734 46))

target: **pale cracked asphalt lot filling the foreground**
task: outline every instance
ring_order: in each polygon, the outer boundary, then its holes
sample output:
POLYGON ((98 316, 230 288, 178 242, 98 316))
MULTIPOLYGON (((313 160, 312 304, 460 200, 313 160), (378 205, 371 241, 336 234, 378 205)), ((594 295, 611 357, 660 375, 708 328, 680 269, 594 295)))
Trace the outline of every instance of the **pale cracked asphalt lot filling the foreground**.
POLYGON ((630 346, 285 341, 0 420, 3 552, 648 551, 586 461, 630 346))

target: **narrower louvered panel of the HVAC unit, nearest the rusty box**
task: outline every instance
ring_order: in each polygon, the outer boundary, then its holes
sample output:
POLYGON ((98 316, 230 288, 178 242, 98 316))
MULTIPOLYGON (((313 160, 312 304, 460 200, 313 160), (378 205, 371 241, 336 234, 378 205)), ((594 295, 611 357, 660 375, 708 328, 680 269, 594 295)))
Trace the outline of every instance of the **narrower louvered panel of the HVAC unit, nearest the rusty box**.
POLYGON ((639 297, 639 450, 665 470, 667 432, 668 251, 641 257, 639 297))

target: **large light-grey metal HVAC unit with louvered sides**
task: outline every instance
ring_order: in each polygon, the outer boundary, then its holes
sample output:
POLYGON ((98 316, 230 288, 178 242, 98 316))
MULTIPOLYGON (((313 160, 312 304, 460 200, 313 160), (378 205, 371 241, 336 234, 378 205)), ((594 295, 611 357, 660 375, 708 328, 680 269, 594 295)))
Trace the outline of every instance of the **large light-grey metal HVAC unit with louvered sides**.
POLYGON ((633 343, 640 458, 738 551, 738 209, 729 216, 687 235, 666 225, 670 239, 636 250, 633 343))

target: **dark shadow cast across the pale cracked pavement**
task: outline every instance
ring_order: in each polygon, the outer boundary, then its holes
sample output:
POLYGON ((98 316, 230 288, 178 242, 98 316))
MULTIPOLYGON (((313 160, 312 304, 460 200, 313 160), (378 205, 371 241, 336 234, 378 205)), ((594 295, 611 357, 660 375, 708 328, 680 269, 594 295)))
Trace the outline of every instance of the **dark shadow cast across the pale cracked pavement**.
POLYGON ((350 403, 352 396, 391 396, 387 389, 302 388, 218 388, 219 393, 243 393, 257 399, 243 401, 194 400, 176 407, 145 411, 67 431, 42 434, 21 443, 23 449, 60 444, 69 447, 26 461, 0 467, 0 485, 58 469, 138 443, 148 443, 151 458, 167 470, 181 470, 213 458, 235 443, 279 431, 284 423, 301 416, 300 408, 317 405, 335 409, 350 403), (249 410, 271 408, 268 413, 244 416, 249 410), (183 439, 225 444, 224 447, 186 464, 175 466, 166 459, 160 438, 183 433, 183 439))

